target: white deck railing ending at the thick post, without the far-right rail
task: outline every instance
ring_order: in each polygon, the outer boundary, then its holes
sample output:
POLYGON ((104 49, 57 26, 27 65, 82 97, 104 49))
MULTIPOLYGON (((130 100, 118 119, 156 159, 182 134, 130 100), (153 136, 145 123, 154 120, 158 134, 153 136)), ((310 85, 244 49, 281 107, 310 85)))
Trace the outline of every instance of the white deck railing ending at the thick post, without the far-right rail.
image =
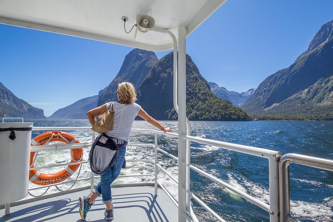
MULTIPOLYGON (((42 131, 42 130, 91 130, 90 127, 33 127, 34 131, 38 130, 38 131, 42 131)), ((171 192, 165 187, 163 186, 163 184, 160 182, 160 180, 158 179, 158 169, 160 169, 161 171, 163 171, 163 173, 165 173, 168 177, 171 178, 171 180, 173 180, 178 186, 182 186, 182 187, 186 187, 186 183, 188 183, 188 181, 185 182, 185 184, 180 184, 178 179, 175 178, 174 176, 171 175, 171 173, 169 173, 167 171, 167 169, 164 169, 160 164, 158 164, 158 152, 161 154, 164 154, 176 161, 178 160, 178 157, 166 152, 165 150, 161 149, 158 147, 158 135, 165 135, 168 137, 173 137, 173 138, 178 138, 178 134, 176 133, 164 133, 161 131, 157 131, 157 130, 152 130, 152 129, 132 129, 132 132, 148 132, 148 133, 152 133, 154 134, 154 144, 128 144, 127 146, 146 146, 146 147, 154 147, 154 159, 142 159, 142 160, 127 160, 128 162, 130 161, 142 161, 142 162, 152 162, 154 163, 154 174, 135 174, 135 175, 120 175, 119 177, 152 177, 154 179, 154 184, 155 184, 155 195, 157 195, 157 188, 158 186, 161 187, 166 194, 170 197, 170 199, 172 200, 172 202, 178 207, 178 201, 177 199, 171 194, 171 192)), ((204 172, 203 170, 200 170, 199 168, 184 163, 187 167, 191 168, 192 170, 198 172, 200 175, 209 178, 210 180, 216 182, 217 184, 220 184, 222 187, 225 187, 226 189, 238 194, 239 196, 243 197, 244 199, 246 199, 247 201, 259 206, 260 208, 264 209, 265 211, 269 212, 270 214, 270 221, 278 221, 278 209, 279 209, 279 165, 278 165, 278 161, 279 158, 282 156, 282 154, 280 152, 277 151, 272 151, 272 150, 268 150, 268 149, 262 149, 262 148, 257 148, 257 147, 251 147, 251 146, 244 146, 244 145, 238 145, 238 144, 232 144, 232 143, 226 143, 226 142, 222 142, 222 141, 216 141, 216 140, 210 140, 210 139, 204 139, 204 138, 200 138, 200 137, 195 137, 195 136, 184 136, 185 140, 189 140, 189 141, 193 141, 193 142, 198 142, 198 143, 202 143, 202 144, 207 144, 207 145, 212 145, 212 146, 216 146, 216 147, 220 147, 223 149, 228 149, 228 150, 233 150, 236 152, 240 152, 240 153, 245 153, 245 154, 249 154, 249 155, 253 155, 253 156, 258 156, 258 157, 262 157, 262 158, 266 158, 268 159, 268 165, 269 165, 269 196, 270 196, 270 205, 262 202, 261 200, 248 195, 247 193, 238 190, 237 188, 227 184, 226 182, 204 172), (273 218, 273 220, 272 220, 273 218)), ((95 133, 92 133, 92 141, 95 140, 95 133)), ((74 149, 74 148, 90 148, 91 147, 91 143, 75 143, 75 144, 64 144, 64 145, 42 145, 42 146, 31 146, 31 152, 33 151, 50 151, 50 150, 63 150, 63 149, 74 149)), ((68 163, 68 164, 53 164, 53 165, 47 165, 47 166, 39 166, 39 167, 34 167, 34 168, 30 168, 30 170, 32 169, 43 169, 43 168, 51 168, 51 167, 59 167, 59 166, 68 166, 68 165, 75 165, 75 164, 87 164, 89 163, 89 161, 80 161, 80 162, 76 162, 76 163, 68 163)), ((79 176, 79 175, 78 175, 79 176)), ((91 181, 91 189, 94 188, 94 182, 95 179, 99 178, 99 176, 95 176, 93 173, 91 174, 90 177, 86 177, 86 178, 80 178, 80 179, 75 179, 75 180, 70 180, 70 181, 65 181, 65 182, 61 182, 61 183, 57 183, 57 184, 50 184, 50 185, 46 185, 46 186, 39 186, 39 187, 34 187, 34 188, 30 188, 29 191, 32 190, 38 190, 38 189, 43 189, 43 188, 49 188, 52 186, 56 186, 56 188, 61 191, 58 186, 59 185, 63 185, 63 184, 68 184, 68 183, 76 183, 78 181, 91 181)), ((46 193, 46 192, 45 192, 46 193)), ((209 213, 211 213, 213 215, 214 218, 216 218, 218 221, 220 222, 224 222, 224 220, 218 215, 216 214, 210 207, 208 207, 203 201, 201 201, 195 194, 193 194, 189 189, 186 189, 186 193, 192 197, 193 200, 195 200, 198 204, 200 204, 204 209, 206 209, 209 213)), ((189 212, 184 212, 184 216, 189 220, 189 221, 196 221, 196 219, 194 219, 193 217, 191 217, 191 214, 189 214, 189 212)))

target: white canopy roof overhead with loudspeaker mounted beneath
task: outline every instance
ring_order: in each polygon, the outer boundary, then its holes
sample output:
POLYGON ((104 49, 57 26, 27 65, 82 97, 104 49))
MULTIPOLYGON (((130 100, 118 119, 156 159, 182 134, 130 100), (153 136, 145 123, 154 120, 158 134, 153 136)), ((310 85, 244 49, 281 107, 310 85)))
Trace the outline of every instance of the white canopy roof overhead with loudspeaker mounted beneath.
POLYGON ((226 0, 0 0, 0 23, 111 42, 135 48, 164 51, 173 48, 171 37, 154 28, 146 33, 126 30, 140 14, 152 16, 155 27, 186 36, 199 27, 226 0))

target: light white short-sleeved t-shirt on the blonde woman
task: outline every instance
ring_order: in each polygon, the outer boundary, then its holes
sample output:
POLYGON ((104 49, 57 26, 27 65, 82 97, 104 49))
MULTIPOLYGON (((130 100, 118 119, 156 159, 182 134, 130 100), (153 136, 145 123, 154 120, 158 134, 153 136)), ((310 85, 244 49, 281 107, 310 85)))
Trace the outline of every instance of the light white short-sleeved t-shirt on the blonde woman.
MULTIPOLYGON (((106 103, 107 109, 111 106, 111 103, 112 102, 106 103)), ((123 139, 128 142, 128 137, 134 122, 134 118, 137 116, 140 108, 140 105, 136 103, 127 105, 113 102, 113 130, 106 132, 106 134, 108 136, 123 139)))

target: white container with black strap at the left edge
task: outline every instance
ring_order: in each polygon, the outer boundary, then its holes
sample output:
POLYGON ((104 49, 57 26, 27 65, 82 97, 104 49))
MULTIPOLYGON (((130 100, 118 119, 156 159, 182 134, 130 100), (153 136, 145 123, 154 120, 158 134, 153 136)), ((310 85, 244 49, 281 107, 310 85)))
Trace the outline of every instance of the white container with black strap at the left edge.
POLYGON ((0 123, 0 205, 13 203, 28 195, 32 124, 0 123), (8 137, 12 131, 16 137, 13 140, 8 137))

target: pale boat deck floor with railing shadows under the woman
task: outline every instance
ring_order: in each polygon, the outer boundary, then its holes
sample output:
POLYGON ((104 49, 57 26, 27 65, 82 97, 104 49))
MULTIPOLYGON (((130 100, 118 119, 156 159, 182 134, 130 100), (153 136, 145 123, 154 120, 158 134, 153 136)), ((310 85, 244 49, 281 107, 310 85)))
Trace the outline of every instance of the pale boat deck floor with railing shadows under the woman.
MULTIPOLYGON (((0 210, 0 222, 81 222, 78 198, 90 189, 47 195, 33 201, 25 200, 10 207, 10 215, 0 210), (17 205, 19 204, 19 205, 17 205), (16 206, 15 206, 16 205, 16 206)), ((154 196, 154 187, 135 186, 112 188, 114 220, 112 222, 175 222, 178 208, 162 189, 154 196)), ((105 222, 105 204, 99 197, 87 215, 86 221, 105 222)))

